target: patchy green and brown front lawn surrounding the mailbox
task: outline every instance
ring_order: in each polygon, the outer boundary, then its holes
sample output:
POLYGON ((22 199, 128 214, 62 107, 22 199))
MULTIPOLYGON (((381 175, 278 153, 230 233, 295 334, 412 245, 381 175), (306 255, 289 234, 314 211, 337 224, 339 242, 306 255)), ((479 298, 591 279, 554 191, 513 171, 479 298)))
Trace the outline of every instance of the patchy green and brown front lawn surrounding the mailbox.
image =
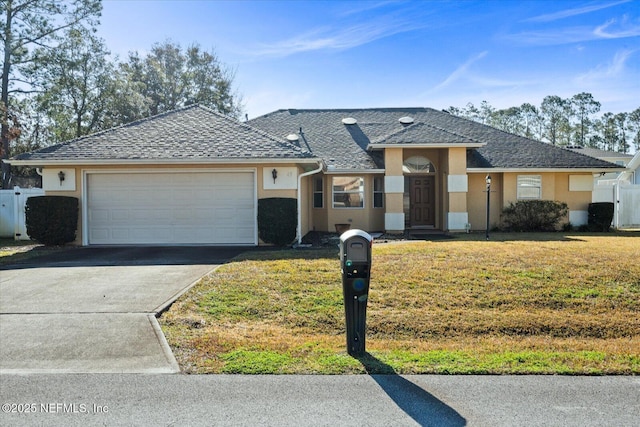
POLYGON ((640 373, 640 234, 491 238, 374 243, 359 360, 337 249, 247 252, 160 323, 190 373, 640 373))

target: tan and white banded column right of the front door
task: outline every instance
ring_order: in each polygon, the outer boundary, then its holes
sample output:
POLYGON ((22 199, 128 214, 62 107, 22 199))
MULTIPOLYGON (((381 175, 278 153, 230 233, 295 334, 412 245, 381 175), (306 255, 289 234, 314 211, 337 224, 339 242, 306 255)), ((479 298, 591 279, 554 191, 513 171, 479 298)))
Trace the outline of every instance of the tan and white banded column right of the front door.
POLYGON ((448 212, 447 229, 464 231, 469 222, 467 211, 467 192, 469 178, 467 176, 467 150, 464 147, 450 148, 449 174, 447 175, 448 212))

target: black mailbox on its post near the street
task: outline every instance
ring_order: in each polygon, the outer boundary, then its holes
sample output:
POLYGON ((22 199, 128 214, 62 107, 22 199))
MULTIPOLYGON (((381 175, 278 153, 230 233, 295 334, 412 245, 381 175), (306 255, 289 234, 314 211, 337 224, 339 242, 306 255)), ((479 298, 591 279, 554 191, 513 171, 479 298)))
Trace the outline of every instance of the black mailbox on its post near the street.
POLYGON ((365 352, 372 240, 371 236, 362 230, 349 230, 340 236, 347 351, 356 356, 365 352))

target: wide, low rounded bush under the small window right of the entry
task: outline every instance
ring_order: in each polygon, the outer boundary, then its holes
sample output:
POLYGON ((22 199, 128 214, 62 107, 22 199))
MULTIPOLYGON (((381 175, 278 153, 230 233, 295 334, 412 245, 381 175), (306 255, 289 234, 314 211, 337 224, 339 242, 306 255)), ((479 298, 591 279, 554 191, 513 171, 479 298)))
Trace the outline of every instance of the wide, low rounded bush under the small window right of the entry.
POLYGON ((504 228, 509 231, 556 231, 569 207, 552 200, 519 200, 502 211, 504 228))

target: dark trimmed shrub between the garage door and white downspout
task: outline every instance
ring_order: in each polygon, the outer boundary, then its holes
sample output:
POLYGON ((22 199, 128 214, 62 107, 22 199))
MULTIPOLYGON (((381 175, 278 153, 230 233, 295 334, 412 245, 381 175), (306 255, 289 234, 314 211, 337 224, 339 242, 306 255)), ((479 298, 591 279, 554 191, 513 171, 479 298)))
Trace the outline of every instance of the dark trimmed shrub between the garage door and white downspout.
POLYGON ((258 200, 258 236, 265 243, 287 246, 296 238, 296 199, 271 197, 258 200))

